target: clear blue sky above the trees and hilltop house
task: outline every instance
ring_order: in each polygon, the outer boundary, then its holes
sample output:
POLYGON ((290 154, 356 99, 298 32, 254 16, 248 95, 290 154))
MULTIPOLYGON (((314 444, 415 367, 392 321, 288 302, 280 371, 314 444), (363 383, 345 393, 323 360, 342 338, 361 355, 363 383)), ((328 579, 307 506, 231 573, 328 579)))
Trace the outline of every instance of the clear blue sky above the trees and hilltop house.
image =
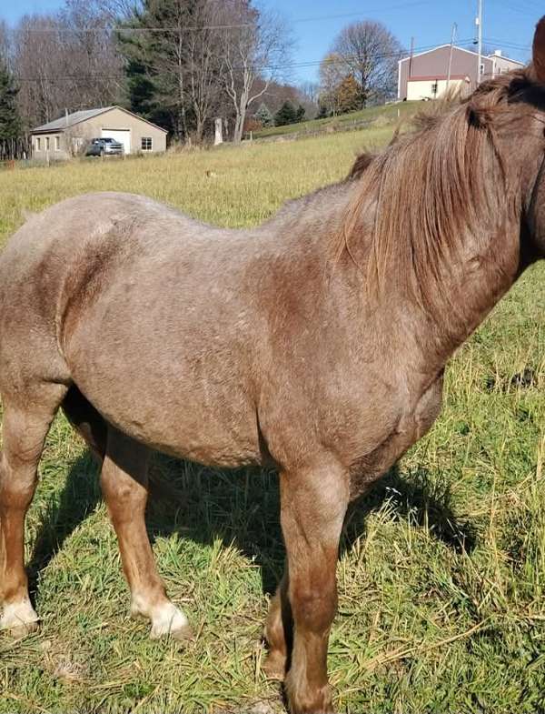
MULTIPOLYGON (((292 81, 315 79, 318 63, 342 26, 358 19, 381 20, 405 47, 428 47, 450 41, 452 23, 458 37, 475 35, 477 0, 262 0, 292 23, 297 41, 292 81), (332 15, 352 15, 338 16, 332 15), (311 19, 312 18, 312 19, 311 19), (322 19, 321 19, 322 18, 322 19), (327 19, 325 19, 327 18, 327 19)), ((0 17, 13 25, 25 13, 47 12, 63 5, 63 0, 0 0, 0 17)), ((484 0, 483 33, 487 45, 526 61, 533 27, 544 12, 542 0, 484 0)))

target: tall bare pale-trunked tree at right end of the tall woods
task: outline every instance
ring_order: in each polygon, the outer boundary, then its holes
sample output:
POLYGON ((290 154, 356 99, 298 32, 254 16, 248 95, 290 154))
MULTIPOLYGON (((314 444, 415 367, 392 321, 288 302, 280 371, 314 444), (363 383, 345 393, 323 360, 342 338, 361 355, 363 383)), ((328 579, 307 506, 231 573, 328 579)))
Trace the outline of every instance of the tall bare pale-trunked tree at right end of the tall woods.
POLYGON ((280 15, 258 11, 246 0, 223 2, 222 82, 235 115, 233 141, 243 139, 248 107, 284 74, 292 35, 280 15))

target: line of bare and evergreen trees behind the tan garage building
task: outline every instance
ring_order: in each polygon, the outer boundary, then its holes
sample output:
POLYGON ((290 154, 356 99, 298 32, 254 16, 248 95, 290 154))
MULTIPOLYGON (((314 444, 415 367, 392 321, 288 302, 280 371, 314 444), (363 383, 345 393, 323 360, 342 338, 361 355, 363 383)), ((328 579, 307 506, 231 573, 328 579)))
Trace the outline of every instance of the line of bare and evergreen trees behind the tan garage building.
POLYGON ((183 143, 203 142, 221 116, 240 142, 249 128, 391 96, 401 48, 382 25, 347 27, 320 85, 286 83, 292 47, 282 17, 253 0, 66 0, 0 24, 0 157, 21 156, 35 126, 95 106, 126 106, 183 143))

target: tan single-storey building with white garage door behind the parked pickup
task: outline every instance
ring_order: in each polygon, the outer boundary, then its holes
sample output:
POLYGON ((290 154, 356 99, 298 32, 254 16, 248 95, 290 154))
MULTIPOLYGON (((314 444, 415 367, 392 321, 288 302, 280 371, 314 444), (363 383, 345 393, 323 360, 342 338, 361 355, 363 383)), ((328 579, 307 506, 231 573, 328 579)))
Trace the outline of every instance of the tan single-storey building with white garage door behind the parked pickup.
POLYGON ((32 132, 33 156, 66 159, 84 151, 93 138, 111 137, 124 145, 125 154, 166 150, 167 132, 121 106, 103 106, 66 114, 37 126, 32 132))

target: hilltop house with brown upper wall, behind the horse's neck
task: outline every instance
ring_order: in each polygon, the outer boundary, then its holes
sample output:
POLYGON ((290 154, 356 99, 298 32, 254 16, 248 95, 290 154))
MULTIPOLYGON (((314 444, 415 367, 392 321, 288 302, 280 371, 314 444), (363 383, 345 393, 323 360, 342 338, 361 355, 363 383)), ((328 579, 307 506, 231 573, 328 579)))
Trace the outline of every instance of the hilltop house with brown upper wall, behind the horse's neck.
MULTIPOLYGON (((476 52, 455 45, 452 60, 451 45, 405 57, 399 63, 398 99, 437 99, 446 92, 447 85, 458 89, 462 95, 470 94, 478 85, 477 65, 479 55, 476 52)), ((481 55, 480 81, 523 66, 522 62, 504 57, 500 50, 493 55, 481 55)))

